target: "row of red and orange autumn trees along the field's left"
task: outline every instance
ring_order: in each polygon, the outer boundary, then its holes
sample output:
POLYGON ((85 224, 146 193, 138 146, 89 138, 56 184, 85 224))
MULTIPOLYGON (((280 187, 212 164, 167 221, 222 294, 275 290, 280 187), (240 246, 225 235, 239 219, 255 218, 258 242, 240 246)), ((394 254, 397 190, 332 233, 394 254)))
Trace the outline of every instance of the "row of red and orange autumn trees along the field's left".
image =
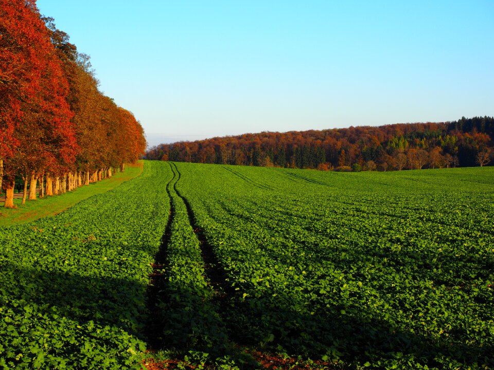
POLYGON ((14 207, 124 170, 144 154, 143 127, 98 90, 90 58, 32 0, 0 2, 0 187, 14 207))

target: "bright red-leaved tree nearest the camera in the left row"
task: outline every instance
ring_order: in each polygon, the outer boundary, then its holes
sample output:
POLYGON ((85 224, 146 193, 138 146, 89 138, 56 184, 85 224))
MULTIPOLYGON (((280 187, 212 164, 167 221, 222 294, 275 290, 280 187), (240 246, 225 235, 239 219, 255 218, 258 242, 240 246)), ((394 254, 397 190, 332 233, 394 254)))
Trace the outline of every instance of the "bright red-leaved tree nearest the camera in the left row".
POLYGON ((0 102, 0 158, 6 170, 5 207, 11 208, 15 174, 22 170, 27 178, 26 169, 33 167, 28 160, 41 159, 39 166, 70 163, 77 143, 67 81, 36 5, 2 3, 0 34, 0 94, 5 97, 0 102))

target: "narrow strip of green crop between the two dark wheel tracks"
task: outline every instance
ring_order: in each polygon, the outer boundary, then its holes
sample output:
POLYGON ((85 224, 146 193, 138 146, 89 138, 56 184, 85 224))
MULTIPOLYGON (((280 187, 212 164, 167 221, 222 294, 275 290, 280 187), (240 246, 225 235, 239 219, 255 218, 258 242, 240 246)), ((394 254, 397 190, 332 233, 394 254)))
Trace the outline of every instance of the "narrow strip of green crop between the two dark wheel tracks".
MULTIPOLYGON (((171 166, 171 164, 170 164, 171 166)), ((190 224, 184 200, 175 190, 180 174, 171 166, 168 185, 172 201, 171 236, 166 249, 167 285, 158 303, 164 322, 164 344, 208 353, 216 358, 228 346, 224 324, 213 303, 199 239, 190 224)))

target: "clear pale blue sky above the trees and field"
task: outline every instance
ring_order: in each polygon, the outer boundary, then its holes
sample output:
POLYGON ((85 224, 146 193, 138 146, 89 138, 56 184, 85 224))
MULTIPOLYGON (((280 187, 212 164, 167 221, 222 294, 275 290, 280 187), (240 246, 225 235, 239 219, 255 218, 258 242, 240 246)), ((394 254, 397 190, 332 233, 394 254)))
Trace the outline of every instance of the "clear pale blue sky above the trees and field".
POLYGON ((38 0, 148 143, 494 116, 494 1, 38 0))

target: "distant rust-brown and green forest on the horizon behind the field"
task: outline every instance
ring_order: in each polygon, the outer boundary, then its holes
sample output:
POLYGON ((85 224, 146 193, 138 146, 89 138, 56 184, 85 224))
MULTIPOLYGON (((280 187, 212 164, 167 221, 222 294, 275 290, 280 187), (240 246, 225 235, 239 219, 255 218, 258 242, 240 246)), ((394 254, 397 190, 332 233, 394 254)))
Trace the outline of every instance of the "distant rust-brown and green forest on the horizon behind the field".
POLYGON ((304 132, 263 132, 160 144, 147 159, 264 167, 362 171, 486 165, 494 118, 361 126, 304 132))

